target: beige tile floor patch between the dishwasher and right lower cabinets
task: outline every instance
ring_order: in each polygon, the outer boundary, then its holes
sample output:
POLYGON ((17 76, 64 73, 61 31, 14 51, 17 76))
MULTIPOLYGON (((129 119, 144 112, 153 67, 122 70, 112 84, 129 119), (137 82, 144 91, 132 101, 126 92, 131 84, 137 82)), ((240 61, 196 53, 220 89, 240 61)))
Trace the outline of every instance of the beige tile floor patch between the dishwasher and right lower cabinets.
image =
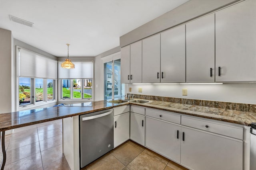
POLYGON ((187 170, 145 147, 127 141, 83 170, 187 170))

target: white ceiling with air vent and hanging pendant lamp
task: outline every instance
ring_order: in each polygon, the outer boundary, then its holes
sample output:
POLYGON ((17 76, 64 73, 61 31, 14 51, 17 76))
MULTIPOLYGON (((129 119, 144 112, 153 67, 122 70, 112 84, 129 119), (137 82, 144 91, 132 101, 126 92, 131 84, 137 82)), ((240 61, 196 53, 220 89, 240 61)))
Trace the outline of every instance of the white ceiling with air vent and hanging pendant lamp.
POLYGON ((119 37, 188 0, 0 0, 0 27, 57 57, 96 56, 119 37), (34 23, 28 27, 9 15, 34 23))

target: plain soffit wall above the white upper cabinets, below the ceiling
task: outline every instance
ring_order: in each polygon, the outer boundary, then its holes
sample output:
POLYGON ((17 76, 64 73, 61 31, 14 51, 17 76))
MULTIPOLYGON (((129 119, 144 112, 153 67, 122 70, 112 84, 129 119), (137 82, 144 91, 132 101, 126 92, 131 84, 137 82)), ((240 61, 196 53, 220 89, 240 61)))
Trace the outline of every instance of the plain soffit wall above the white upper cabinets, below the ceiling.
POLYGON ((122 35, 120 37, 120 47, 193 20, 237 1, 239 0, 189 0, 158 18, 122 35))

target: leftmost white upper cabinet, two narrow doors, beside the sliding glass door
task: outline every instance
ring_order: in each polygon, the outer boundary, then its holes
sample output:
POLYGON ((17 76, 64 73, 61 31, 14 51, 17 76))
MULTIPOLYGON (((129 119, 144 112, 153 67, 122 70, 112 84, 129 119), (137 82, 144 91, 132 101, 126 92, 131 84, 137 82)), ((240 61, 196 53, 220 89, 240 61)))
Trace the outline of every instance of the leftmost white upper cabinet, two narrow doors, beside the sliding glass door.
POLYGON ((121 82, 142 82, 142 41, 121 48, 121 82))

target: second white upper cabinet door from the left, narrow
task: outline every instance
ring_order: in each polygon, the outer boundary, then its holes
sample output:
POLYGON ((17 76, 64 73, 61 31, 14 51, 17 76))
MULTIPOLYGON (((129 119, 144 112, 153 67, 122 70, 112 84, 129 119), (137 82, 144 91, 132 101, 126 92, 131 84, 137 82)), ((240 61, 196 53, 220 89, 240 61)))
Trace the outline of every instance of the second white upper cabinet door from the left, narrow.
POLYGON ((130 82, 142 82, 142 41, 130 45, 130 82))

